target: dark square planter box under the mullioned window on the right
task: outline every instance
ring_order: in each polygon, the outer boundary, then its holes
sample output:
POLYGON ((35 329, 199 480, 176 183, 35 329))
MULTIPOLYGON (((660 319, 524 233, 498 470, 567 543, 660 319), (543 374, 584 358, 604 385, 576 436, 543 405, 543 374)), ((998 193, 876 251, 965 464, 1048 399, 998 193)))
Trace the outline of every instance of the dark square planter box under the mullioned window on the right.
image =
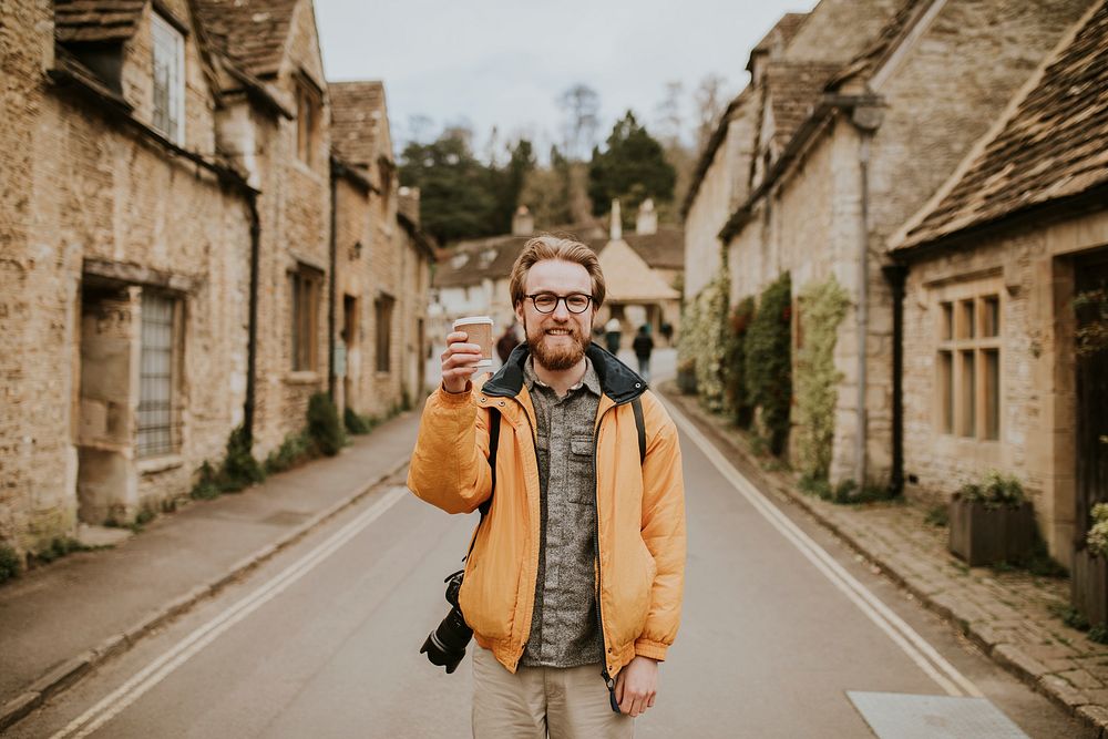
POLYGON ((950 550, 971 567, 1016 562, 1035 547, 1035 513, 1030 503, 1018 509, 987 509, 955 496, 950 507, 950 550))

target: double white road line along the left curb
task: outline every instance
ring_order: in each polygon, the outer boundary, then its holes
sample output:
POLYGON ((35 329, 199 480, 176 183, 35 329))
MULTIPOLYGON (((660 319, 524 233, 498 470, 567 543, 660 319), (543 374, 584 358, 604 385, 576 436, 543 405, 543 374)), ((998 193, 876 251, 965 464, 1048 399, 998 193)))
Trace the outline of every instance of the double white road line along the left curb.
POLYGON ((408 494, 404 487, 393 487, 386 492, 381 500, 375 503, 372 507, 350 521, 350 523, 332 534, 327 541, 286 567, 273 579, 178 642, 172 649, 133 675, 116 688, 114 692, 73 719, 64 729, 53 735, 51 739, 62 739, 64 737, 80 739, 112 720, 127 706, 141 698, 143 694, 164 680, 171 673, 188 661, 189 658, 204 649, 204 647, 212 644, 224 632, 293 586, 298 579, 307 575, 343 544, 361 533, 362 530, 408 494))

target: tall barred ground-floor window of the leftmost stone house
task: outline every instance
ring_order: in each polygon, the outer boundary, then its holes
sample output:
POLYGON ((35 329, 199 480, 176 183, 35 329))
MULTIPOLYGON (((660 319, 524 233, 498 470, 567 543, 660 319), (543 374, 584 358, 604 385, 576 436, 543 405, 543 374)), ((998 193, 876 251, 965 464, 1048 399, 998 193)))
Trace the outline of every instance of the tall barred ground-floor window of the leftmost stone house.
POLYGON ((137 455, 172 454, 179 445, 174 413, 176 300, 142 296, 142 347, 138 370, 137 455))

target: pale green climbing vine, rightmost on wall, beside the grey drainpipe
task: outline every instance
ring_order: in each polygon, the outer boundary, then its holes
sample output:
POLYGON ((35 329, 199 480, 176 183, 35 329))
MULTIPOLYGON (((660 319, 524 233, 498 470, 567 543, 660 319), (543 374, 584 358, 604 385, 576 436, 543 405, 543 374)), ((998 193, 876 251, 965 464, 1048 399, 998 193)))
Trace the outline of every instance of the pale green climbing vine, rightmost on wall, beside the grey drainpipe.
POLYGON ((797 460, 800 471, 827 480, 834 442, 834 411, 842 373, 834 367, 839 324, 850 298, 835 278, 809 283, 799 296, 800 335, 794 381, 797 393, 797 460))

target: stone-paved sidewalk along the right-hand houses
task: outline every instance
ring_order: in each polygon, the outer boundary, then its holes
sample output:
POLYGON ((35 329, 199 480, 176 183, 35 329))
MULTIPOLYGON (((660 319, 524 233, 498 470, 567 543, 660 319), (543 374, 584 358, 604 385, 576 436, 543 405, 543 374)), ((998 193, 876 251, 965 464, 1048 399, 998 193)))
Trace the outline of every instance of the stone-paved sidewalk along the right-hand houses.
POLYGON ((1051 612, 1069 605, 1068 579, 967 567, 947 552, 946 527, 927 523, 927 511, 912 502, 851 506, 804 495, 791 473, 762 469, 741 434, 695 397, 679 394, 671 382, 661 392, 761 491, 807 510, 996 663, 1108 739, 1108 646, 1051 612))

